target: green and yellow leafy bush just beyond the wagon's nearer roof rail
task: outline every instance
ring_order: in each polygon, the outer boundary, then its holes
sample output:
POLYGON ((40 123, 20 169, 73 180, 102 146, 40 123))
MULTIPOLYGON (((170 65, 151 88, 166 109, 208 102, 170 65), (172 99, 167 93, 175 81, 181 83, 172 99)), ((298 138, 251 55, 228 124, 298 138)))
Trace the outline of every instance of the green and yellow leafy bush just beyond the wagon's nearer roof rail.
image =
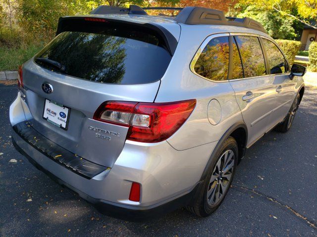
POLYGON ((261 7, 247 6, 238 17, 250 17, 259 21, 268 35, 274 39, 294 40, 296 34, 292 27, 293 19, 281 16, 273 10, 265 10, 261 7))

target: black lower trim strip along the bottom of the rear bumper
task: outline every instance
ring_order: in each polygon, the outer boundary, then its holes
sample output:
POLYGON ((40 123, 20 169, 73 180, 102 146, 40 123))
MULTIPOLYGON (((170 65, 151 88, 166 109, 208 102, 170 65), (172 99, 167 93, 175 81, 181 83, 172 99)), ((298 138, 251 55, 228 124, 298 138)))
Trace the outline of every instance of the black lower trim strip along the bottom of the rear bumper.
POLYGON ((109 216, 113 216, 116 218, 124 219, 124 220, 135 220, 135 221, 144 220, 149 217, 157 217, 159 215, 173 211, 181 206, 185 206, 191 203, 191 201, 195 197, 195 194, 197 193, 197 190, 201 186, 201 182, 197 183, 197 185, 195 185, 192 191, 184 196, 178 197, 176 199, 173 199, 169 202, 165 202, 163 204, 151 205, 146 207, 131 206, 126 204, 106 201, 103 199, 91 197, 83 193, 82 191, 76 189, 75 187, 71 186, 70 184, 66 183, 65 181, 61 180, 60 178, 58 178, 52 172, 50 172, 49 170, 44 168, 41 164, 39 164, 35 159, 30 157, 25 151, 23 151, 21 147, 19 147, 19 145, 16 143, 14 136, 12 136, 12 143, 18 152, 20 152, 24 157, 26 157, 30 161, 30 163, 33 164, 37 169, 47 174, 53 181, 55 181, 56 183, 60 184, 63 187, 66 187, 74 191, 80 197, 92 203, 97 208, 97 210, 100 211, 101 213, 109 215, 109 216))

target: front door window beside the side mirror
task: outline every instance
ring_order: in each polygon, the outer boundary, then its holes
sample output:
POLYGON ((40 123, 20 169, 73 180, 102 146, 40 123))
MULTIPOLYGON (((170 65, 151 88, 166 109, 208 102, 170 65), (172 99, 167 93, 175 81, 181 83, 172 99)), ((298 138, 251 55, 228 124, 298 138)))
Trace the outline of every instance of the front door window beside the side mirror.
POLYGON ((267 55, 267 61, 269 65, 269 74, 278 74, 287 72, 286 60, 278 49, 278 47, 270 40, 263 39, 264 48, 267 55))

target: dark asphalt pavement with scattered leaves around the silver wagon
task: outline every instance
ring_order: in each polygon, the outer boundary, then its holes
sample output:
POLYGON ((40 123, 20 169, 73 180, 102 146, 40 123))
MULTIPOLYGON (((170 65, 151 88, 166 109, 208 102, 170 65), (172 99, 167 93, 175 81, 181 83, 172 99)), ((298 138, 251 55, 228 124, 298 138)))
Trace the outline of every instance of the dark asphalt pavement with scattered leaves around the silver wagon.
POLYGON ((15 151, 8 107, 16 93, 0 82, 0 236, 317 236, 317 88, 306 89, 289 132, 272 131, 247 151, 210 217, 181 208, 137 223, 100 214, 15 151))

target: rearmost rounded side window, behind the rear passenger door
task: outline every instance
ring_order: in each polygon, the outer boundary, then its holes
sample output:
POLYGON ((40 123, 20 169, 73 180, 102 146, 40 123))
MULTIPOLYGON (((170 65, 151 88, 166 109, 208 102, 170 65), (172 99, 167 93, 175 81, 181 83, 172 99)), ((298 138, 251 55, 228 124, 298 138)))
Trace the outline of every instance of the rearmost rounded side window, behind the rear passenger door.
POLYGON ((194 70, 211 80, 226 80, 229 67, 229 37, 217 37, 206 45, 194 70))

